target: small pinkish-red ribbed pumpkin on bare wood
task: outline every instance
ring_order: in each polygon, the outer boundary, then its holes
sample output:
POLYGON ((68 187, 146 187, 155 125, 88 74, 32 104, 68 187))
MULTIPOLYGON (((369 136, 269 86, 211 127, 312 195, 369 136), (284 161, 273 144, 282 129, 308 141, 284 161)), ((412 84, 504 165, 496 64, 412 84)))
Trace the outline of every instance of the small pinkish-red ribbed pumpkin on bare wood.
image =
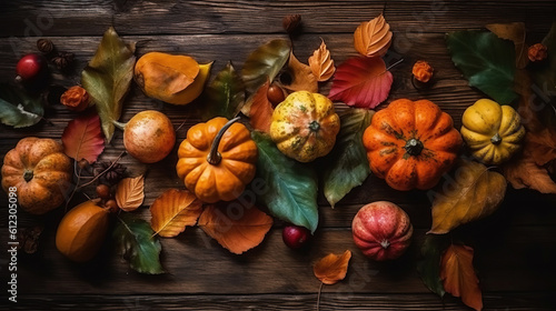
POLYGON ((407 213, 387 201, 363 207, 351 222, 355 244, 376 261, 399 258, 409 245, 413 231, 407 213))

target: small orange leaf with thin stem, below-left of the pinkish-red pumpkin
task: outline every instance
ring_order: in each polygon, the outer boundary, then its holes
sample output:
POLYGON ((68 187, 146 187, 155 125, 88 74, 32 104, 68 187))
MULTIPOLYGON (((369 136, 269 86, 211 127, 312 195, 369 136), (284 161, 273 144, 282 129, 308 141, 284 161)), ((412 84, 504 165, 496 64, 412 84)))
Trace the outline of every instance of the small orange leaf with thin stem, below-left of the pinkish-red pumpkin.
POLYGON ((336 284, 346 278, 349 259, 351 259, 349 250, 339 255, 330 253, 312 265, 312 272, 322 283, 336 284))

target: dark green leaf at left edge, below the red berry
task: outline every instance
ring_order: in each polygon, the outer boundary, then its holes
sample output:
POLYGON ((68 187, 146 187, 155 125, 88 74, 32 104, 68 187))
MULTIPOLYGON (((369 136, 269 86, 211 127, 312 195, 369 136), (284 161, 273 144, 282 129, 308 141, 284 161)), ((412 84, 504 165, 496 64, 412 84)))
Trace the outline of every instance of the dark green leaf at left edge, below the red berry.
POLYGON ((44 114, 42 98, 7 83, 0 84, 0 122, 13 128, 37 124, 44 114))

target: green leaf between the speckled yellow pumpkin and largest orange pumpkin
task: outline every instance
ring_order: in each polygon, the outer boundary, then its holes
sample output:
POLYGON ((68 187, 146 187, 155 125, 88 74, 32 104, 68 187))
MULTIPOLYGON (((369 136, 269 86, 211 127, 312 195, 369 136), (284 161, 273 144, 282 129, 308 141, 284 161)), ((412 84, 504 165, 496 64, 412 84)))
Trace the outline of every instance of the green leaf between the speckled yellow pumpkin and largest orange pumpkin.
POLYGON ((374 113, 367 109, 349 109, 340 116, 340 132, 332 152, 325 159, 322 175, 325 197, 332 208, 370 174, 363 133, 374 113))

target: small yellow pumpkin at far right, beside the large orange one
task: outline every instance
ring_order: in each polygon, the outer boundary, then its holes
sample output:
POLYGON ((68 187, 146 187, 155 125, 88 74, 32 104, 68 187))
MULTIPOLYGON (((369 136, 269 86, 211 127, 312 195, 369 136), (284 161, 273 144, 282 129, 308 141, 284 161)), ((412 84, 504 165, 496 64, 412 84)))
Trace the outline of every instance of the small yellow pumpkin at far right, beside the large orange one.
POLYGON ((471 154, 486 164, 502 164, 520 148, 525 128, 517 111, 479 99, 461 117, 461 137, 471 154))

